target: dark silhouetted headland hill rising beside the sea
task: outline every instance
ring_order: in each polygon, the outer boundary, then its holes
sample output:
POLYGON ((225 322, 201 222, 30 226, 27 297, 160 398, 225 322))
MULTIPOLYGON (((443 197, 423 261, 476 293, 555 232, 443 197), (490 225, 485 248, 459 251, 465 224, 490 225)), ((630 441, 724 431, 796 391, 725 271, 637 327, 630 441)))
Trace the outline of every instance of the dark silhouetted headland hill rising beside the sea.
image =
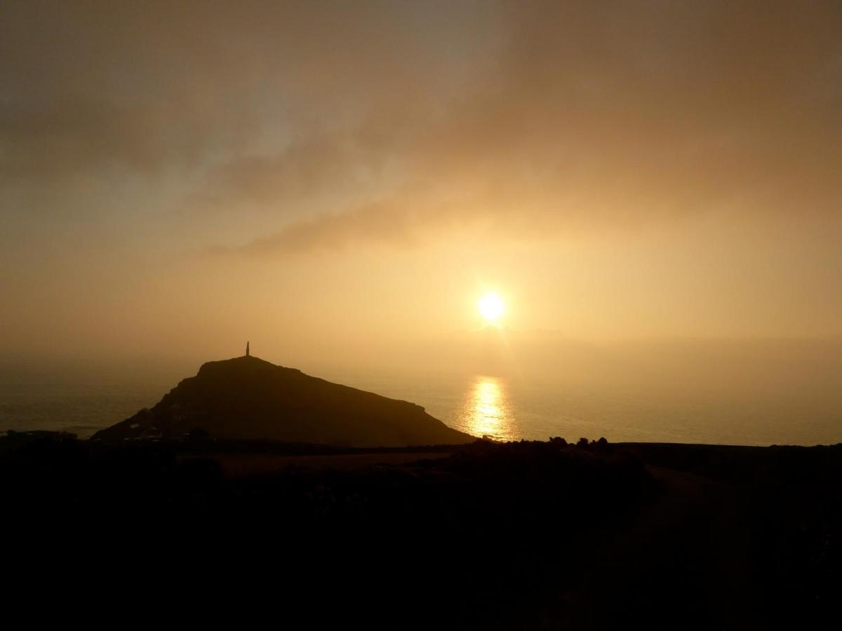
POLYGON ((219 437, 349 447, 461 444, 476 440, 408 401, 333 384, 245 355, 205 363, 152 409, 93 440, 219 437))

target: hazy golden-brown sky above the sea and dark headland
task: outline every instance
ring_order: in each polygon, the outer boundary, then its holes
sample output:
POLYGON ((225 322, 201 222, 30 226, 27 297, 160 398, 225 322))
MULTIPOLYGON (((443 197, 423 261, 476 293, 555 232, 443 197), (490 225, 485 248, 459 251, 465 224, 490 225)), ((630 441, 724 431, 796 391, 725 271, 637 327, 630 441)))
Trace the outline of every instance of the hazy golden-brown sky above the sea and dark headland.
POLYGON ((5 2, 0 222, 7 356, 839 336, 842 4, 5 2))

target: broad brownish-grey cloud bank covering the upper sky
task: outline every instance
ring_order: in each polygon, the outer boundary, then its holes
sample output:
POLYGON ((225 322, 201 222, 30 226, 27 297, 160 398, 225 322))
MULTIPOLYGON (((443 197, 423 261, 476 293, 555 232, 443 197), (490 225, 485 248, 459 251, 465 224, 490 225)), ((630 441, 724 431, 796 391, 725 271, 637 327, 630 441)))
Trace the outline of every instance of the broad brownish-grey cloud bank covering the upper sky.
POLYGON ((0 27, 0 178, 174 169, 186 207, 277 215, 229 252, 842 199, 838 3, 50 8, 0 27))

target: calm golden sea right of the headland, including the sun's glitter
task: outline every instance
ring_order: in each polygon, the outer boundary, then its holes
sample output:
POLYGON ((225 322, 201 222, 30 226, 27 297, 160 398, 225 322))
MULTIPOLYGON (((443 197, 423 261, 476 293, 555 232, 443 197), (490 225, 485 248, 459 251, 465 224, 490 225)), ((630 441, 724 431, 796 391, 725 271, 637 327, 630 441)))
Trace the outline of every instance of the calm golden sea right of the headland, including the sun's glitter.
POLYGON ((346 379, 413 400, 451 427, 501 439, 606 437, 612 442, 826 444, 842 442, 842 396, 588 388, 473 375, 465 379, 346 379))

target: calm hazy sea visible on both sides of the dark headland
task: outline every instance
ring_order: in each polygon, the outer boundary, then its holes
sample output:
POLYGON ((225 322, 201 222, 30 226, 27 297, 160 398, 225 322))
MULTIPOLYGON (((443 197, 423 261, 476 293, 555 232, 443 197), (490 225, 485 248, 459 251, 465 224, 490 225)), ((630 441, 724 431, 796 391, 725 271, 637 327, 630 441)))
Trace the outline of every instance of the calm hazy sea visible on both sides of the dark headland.
MULTIPOLYGON (((312 371, 339 383, 424 406, 464 432, 503 439, 562 436, 610 441, 731 444, 842 442, 842 396, 814 393, 670 392, 563 382, 527 384, 493 375, 312 371)), ((189 371, 188 371, 189 374, 189 371)), ((154 405, 184 371, 137 377, 30 375, 0 382, 0 430, 51 429, 89 437, 154 405), (179 375, 179 376, 175 376, 179 375)))

